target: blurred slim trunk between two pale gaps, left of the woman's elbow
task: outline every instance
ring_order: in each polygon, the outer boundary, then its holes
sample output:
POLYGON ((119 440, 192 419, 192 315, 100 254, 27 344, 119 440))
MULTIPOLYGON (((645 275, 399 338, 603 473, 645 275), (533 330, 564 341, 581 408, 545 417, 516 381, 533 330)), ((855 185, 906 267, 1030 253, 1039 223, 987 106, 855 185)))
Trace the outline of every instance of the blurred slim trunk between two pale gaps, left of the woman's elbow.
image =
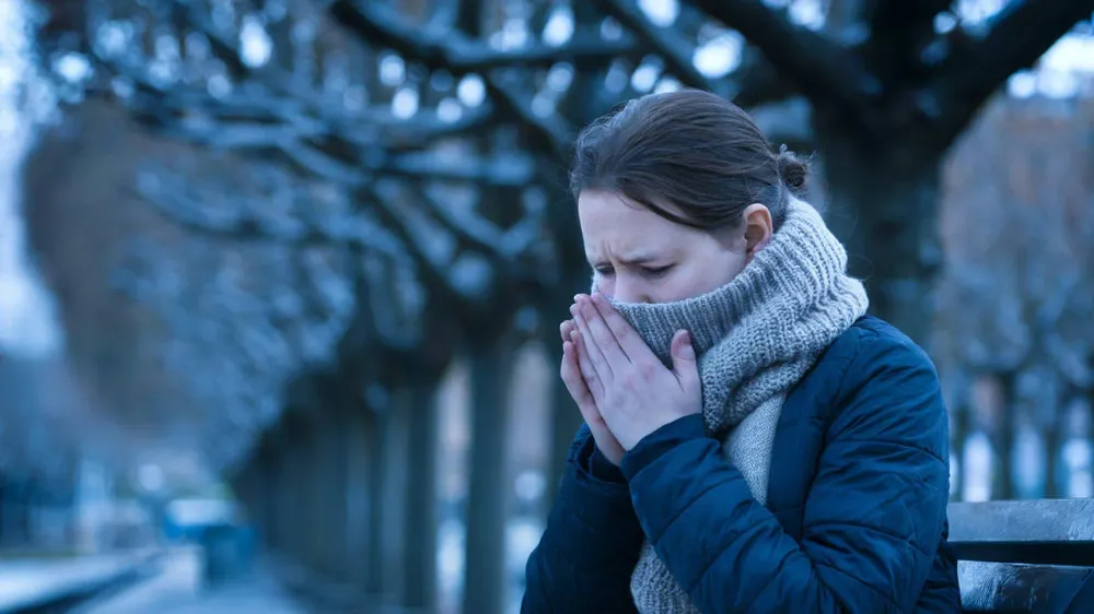
POLYGON ((501 614, 505 560, 507 388, 511 343, 478 343, 470 353, 472 444, 467 497, 464 614, 501 614))

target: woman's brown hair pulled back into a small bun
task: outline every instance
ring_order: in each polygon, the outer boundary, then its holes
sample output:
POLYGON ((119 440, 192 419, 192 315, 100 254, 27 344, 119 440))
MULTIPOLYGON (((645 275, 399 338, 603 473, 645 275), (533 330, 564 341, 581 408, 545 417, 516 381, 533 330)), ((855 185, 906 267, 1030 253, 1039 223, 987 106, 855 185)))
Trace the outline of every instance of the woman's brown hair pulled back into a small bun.
POLYGON ((662 217, 705 231, 737 227, 749 204, 778 227, 808 164, 778 153, 741 107, 682 90, 635 98, 578 137, 570 191, 607 190, 662 217))

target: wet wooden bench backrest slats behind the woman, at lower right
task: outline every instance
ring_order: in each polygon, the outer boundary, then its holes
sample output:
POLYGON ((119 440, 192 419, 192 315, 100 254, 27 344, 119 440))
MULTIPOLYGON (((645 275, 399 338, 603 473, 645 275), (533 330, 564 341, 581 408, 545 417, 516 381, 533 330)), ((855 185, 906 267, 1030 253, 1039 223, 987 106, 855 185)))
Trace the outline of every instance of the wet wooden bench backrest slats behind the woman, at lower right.
POLYGON ((1094 614, 1094 499, 950 505, 964 612, 1094 614))

